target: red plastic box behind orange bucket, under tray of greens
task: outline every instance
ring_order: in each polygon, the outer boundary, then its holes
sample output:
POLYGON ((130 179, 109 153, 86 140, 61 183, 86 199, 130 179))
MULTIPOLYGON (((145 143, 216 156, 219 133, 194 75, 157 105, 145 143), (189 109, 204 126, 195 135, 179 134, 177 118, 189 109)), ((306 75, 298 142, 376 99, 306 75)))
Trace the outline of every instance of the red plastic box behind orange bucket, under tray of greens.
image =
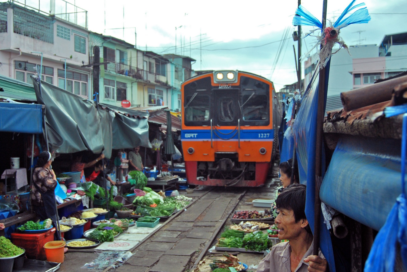
POLYGON ((55 228, 43 233, 11 233, 11 241, 26 250, 28 259, 45 261, 44 245, 54 241, 55 228))

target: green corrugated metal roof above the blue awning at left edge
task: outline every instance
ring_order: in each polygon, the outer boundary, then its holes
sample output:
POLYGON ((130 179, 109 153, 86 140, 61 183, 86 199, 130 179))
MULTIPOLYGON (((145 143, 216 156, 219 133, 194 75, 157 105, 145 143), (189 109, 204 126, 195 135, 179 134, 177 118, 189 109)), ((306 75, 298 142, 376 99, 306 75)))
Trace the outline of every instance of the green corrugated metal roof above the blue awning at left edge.
POLYGON ((16 100, 37 101, 33 85, 0 75, 0 96, 16 100))

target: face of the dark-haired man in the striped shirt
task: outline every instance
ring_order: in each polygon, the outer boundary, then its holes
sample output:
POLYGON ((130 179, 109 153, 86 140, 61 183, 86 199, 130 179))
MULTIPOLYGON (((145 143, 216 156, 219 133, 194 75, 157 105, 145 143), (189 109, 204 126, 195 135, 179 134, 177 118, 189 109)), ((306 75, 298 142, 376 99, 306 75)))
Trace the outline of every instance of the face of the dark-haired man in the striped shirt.
POLYGON ((295 239, 303 231, 302 225, 304 224, 304 220, 299 220, 297 223, 295 223, 293 210, 280 209, 279 211, 280 213, 277 215, 277 218, 274 221, 277 227, 279 228, 278 239, 280 240, 295 239))

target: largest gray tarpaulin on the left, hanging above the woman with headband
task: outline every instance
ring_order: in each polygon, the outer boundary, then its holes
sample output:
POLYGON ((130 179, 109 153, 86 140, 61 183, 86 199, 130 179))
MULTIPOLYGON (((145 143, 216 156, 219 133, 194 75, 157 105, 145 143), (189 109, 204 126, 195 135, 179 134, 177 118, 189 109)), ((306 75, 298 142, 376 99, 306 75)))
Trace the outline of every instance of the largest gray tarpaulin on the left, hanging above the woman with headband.
POLYGON ((112 116, 86 100, 45 81, 33 80, 39 104, 45 104, 48 141, 57 153, 90 150, 112 154, 112 116))

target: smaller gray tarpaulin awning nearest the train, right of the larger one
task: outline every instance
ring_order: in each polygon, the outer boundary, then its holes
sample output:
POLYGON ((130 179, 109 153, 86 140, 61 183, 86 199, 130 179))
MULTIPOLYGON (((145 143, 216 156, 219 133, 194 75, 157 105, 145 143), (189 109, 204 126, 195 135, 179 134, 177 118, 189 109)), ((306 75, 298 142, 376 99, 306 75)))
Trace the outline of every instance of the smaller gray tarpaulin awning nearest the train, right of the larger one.
POLYGON ((149 141, 148 112, 101 105, 115 113, 112 122, 113 149, 152 147, 149 141))

